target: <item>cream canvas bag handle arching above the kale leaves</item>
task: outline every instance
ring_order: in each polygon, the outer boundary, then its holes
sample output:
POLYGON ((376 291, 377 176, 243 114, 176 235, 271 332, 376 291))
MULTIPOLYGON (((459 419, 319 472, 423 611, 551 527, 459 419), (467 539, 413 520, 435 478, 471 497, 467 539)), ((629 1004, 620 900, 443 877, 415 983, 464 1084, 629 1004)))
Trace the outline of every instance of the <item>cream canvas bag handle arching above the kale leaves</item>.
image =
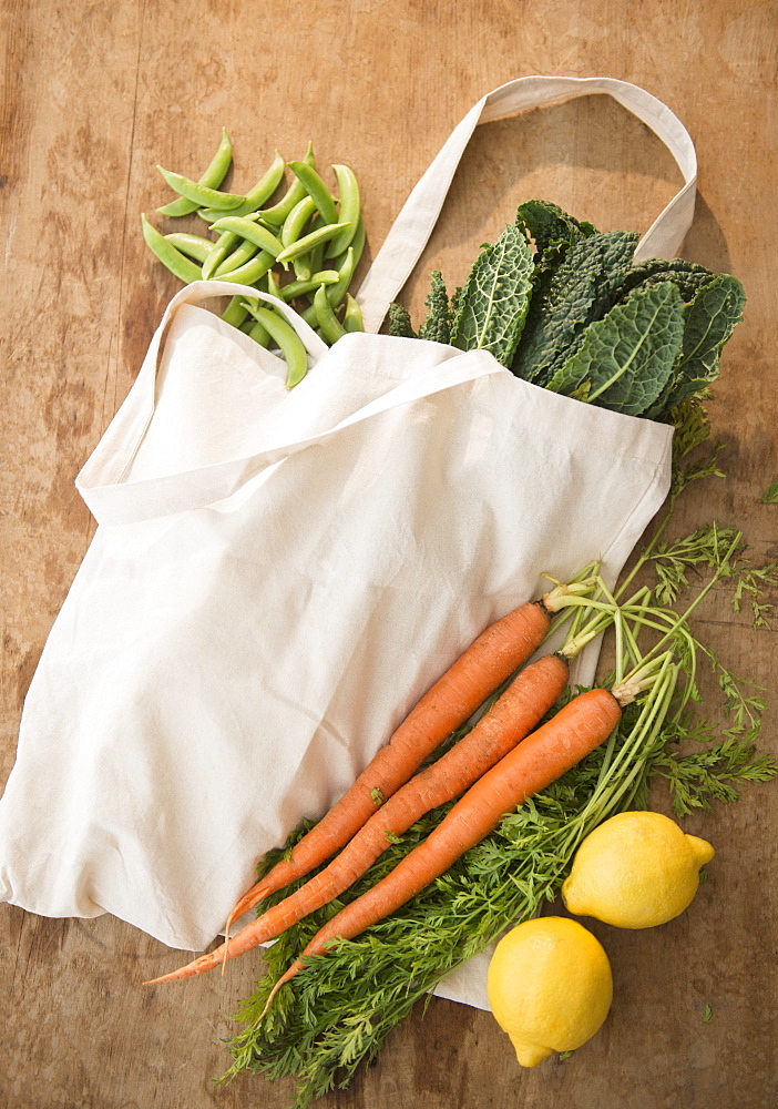
POLYGON ((649 126, 667 146, 683 174, 683 187, 654 221, 635 251, 636 262, 675 257, 694 218, 697 187, 697 156, 680 120, 645 89, 615 78, 518 78, 487 93, 471 108, 411 191, 357 294, 367 332, 379 329, 389 304, 421 257, 477 125, 595 93, 613 96, 649 126))

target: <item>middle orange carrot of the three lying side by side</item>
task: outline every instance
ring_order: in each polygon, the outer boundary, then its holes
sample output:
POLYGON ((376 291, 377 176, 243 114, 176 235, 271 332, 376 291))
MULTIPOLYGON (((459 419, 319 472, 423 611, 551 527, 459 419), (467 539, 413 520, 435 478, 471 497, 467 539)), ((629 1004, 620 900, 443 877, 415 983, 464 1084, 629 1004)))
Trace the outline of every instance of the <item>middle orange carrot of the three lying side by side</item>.
POLYGON ((229 942, 154 983, 190 978, 252 950, 334 901, 424 813, 462 794, 535 728, 567 683, 562 655, 546 654, 523 670, 472 730, 437 762, 401 786, 324 871, 229 942))

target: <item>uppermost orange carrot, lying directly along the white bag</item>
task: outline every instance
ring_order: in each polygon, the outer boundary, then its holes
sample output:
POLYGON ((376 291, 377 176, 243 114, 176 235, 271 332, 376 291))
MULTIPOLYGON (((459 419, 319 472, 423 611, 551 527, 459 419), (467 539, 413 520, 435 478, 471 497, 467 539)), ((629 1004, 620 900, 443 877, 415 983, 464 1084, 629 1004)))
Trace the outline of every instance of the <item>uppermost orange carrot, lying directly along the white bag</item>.
MULTIPOLYGON (((580 588, 580 587, 579 587, 580 588)), ((308 874, 342 847, 454 729, 540 647, 551 613, 575 586, 557 586, 490 624, 422 696, 354 785, 281 859, 237 902, 226 925, 263 897, 308 874)))

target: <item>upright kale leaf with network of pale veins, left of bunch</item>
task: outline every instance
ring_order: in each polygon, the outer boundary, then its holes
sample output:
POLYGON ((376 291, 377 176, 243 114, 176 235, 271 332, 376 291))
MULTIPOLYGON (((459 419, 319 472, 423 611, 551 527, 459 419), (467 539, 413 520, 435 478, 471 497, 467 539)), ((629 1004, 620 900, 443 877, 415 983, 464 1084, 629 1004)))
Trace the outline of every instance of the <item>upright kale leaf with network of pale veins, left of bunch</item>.
POLYGON ((487 243, 457 296, 451 345, 489 350, 510 366, 532 295, 534 257, 520 227, 509 224, 487 243))

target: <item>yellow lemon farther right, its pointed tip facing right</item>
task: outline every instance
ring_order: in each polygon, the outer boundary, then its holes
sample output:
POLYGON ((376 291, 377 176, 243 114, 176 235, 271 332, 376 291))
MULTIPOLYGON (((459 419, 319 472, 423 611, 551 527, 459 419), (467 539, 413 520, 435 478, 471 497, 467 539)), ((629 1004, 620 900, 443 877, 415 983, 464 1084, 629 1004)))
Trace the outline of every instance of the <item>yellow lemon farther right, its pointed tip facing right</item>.
POLYGON ((714 856, 662 813, 620 813, 583 841, 562 885, 571 913, 617 928, 652 928, 678 916, 699 888, 699 868, 714 856))

